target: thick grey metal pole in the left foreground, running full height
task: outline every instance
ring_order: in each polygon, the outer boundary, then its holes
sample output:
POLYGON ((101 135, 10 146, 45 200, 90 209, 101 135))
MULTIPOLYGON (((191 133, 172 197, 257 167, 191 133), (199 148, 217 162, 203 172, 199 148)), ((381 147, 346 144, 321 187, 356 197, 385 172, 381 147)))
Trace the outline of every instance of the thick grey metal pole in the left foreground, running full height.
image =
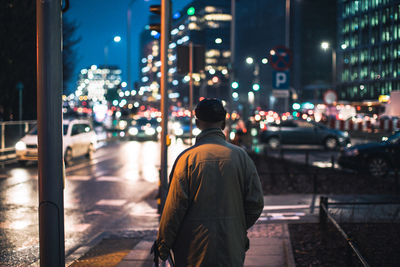
POLYGON ((65 266, 61 1, 36 0, 40 266, 65 266))

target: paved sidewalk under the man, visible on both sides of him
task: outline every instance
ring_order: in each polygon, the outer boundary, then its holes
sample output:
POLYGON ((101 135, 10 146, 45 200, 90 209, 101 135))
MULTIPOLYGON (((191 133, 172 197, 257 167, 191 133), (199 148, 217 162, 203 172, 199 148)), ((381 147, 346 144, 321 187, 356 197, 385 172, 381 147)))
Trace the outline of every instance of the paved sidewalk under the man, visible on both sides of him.
MULTIPOLYGON (((246 253, 244 266, 295 266, 286 223, 256 224, 249 230, 248 236, 250 249, 246 253)), ((152 256, 149 254, 151 246, 151 241, 140 241, 117 266, 151 267, 153 264, 152 256)))

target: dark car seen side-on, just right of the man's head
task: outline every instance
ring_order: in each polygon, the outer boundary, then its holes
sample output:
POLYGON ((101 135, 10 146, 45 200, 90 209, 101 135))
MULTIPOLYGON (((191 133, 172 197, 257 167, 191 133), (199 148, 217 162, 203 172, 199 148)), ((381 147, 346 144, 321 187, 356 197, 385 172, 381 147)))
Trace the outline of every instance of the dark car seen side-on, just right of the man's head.
POLYGON ((279 124, 272 122, 264 126, 260 141, 272 149, 281 145, 322 145, 326 149, 336 149, 350 144, 347 132, 330 129, 323 124, 306 120, 285 120, 279 124))

